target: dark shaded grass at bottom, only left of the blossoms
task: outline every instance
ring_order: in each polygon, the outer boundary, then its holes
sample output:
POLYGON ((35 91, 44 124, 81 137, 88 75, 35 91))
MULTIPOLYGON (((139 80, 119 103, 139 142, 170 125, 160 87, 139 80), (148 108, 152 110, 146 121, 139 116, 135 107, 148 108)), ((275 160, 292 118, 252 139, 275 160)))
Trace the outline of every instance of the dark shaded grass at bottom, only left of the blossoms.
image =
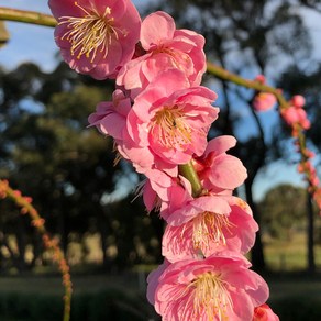
MULTIPOLYGON (((0 320, 62 320, 60 283, 59 277, 53 276, 1 277, 0 320)), ((76 276, 73 283, 71 321, 146 321, 155 317, 134 274, 76 276)))

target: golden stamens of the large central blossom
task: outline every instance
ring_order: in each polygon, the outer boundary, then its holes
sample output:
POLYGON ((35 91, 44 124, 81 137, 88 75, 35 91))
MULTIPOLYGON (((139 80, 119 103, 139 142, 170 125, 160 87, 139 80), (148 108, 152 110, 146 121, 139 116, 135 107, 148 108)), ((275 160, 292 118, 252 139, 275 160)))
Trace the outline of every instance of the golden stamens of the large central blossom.
POLYGON ((151 134, 165 147, 184 148, 191 143, 191 129, 180 107, 164 107, 152 119, 151 134))

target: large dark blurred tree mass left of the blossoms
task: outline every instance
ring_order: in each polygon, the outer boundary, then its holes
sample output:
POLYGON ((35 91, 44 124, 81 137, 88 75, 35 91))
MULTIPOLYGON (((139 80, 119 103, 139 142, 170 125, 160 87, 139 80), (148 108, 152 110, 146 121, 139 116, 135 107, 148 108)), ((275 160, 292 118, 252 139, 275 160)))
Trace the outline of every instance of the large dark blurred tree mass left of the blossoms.
MULTIPOLYGON (((33 198, 65 251, 70 240, 82 242, 86 235, 99 233, 107 267, 155 263, 159 255, 155 228, 159 228, 153 220, 158 218, 144 218, 141 201, 131 203, 134 196, 126 197, 137 177, 126 163, 114 164, 112 140, 96 128, 87 129, 96 104, 110 99, 109 82, 93 86, 65 64, 53 74, 25 64, 10 73, 2 70, 0 86, 1 178, 33 198)), ((29 218, 19 218, 5 201, 0 210, 4 231, 0 242, 7 253, 1 252, 2 268, 44 263, 41 240, 29 218), (34 259, 26 264, 29 245, 34 259)))

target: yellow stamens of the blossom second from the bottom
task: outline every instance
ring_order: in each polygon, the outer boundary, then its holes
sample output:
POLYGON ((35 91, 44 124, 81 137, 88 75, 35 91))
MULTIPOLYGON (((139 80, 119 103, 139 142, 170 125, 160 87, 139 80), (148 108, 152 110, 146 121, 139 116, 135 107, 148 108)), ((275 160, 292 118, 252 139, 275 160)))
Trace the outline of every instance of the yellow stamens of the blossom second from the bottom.
POLYGON ((223 229, 232 226, 226 215, 203 212, 198 214, 192 223, 192 244, 196 250, 209 248, 210 243, 226 244, 223 229))

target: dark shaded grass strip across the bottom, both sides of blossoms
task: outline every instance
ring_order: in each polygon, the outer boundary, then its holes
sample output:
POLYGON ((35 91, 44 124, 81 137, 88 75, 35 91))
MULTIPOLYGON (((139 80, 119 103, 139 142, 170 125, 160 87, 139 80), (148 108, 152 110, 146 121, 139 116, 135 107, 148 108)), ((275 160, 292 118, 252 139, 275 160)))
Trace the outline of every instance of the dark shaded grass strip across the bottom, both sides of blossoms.
MULTIPOLYGON (((270 299, 269 303, 272 308, 281 317, 281 321, 317 321, 321 320, 321 274, 316 274, 314 276, 309 276, 300 273, 274 273, 264 276, 270 288, 270 299), (309 312, 309 313, 308 313, 309 312), (308 314, 307 314, 308 313, 308 314), (316 314, 317 313, 317 314, 316 314)), ((108 276, 108 275, 97 275, 97 276, 75 276, 73 278, 74 283, 74 306, 73 309, 77 310, 76 314, 81 316, 85 312, 80 310, 84 309, 82 306, 88 305, 97 310, 97 307, 109 309, 110 301, 117 301, 117 309, 131 311, 137 316, 137 319, 132 317, 97 317, 90 312, 86 312, 85 319, 71 318, 71 321, 103 321, 103 320, 153 320, 156 321, 155 314, 153 314, 153 308, 148 306, 145 299, 145 290, 140 290, 141 277, 134 274, 129 274, 124 276, 108 276), (117 289, 117 291, 114 291, 117 289), (120 296, 120 294, 123 294, 120 296), (115 297, 115 299, 113 299, 115 297), (79 307, 82 307, 79 310, 79 307), (91 317, 89 317, 91 316, 91 317), (107 319, 106 319, 107 318, 107 319)), ((48 313, 56 313, 60 316, 62 311, 62 297, 63 289, 60 286, 59 277, 44 277, 44 276, 26 276, 26 277, 1 277, 0 278, 0 308, 1 299, 3 296, 8 296, 11 292, 18 292, 20 298, 15 297, 15 302, 19 308, 18 316, 24 316, 25 307, 22 301, 26 298, 35 298, 41 295, 44 298, 52 300, 48 305, 60 306, 58 307, 58 312, 51 312, 51 308, 44 305, 43 310, 40 311, 44 316, 48 313), (52 298, 55 297, 55 300, 52 298), (59 310, 60 309, 60 310, 59 310)), ((40 302, 40 305, 43 305, 40 302)), ((3 306, 3 305, 2 305, 3 306)), ((35 305, 38 308, 38 305, 35 305)), ((114 307, 112 309, 115 309, 114 307)), ((30 313, 30 312, 27 312, 30 313)), ((113 311, 115 313, 115 311, 113 311)), ((27 314, 30 316, 30 314, 27 314)), ((126 314, 128 316, 128 314, 126 314)), ((59 317, 55 319, 37 319, 35 317, 31 319, 2 317, 0 310, 1 321, 24 321, 24 320, 62 320, 59 317)))

